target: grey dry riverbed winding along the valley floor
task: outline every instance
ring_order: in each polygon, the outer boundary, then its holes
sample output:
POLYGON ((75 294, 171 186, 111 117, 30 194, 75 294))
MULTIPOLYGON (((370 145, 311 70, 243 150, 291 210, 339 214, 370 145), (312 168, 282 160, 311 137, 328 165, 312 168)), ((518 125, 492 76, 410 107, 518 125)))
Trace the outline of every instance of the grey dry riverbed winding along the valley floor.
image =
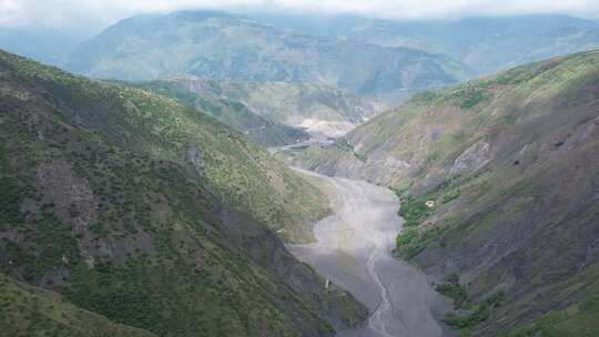
POLYGON ((302 172, 323 181, 334 213, 315 224, 316 243, 288 249, 373 313, 358 329, 338 336, 451 336, 438 320, 451 305, 426 275, 390 255, 403 223, 396 195, 366 182, 302 172))

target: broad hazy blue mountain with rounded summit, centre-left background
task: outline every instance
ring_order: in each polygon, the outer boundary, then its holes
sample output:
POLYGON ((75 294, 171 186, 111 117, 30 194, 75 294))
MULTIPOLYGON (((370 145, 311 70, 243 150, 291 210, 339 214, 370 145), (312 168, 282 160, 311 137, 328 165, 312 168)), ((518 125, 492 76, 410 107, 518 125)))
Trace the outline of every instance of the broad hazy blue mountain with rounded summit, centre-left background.
POLYGON ((80 44, 67 68, 120 80, 192 74, 316 83, 387 98, 468 75, 463 64, 445 55, 312 37, 241 16, 204 11, 122 20, 80 44))

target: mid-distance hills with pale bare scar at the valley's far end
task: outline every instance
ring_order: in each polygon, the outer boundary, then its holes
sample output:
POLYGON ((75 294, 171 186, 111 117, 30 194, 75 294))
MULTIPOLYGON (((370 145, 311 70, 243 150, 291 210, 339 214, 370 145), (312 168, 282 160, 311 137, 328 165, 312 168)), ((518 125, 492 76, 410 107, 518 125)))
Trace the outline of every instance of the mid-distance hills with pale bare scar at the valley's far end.
POLYGON ((205 105, 210 99, 240 102, 247 110, 237 109, 234 113, 225 113, 230 116, 223 115, 222 120, 238 130, 254 130, 256 135, 281 127, 282 124, 304 129, 314 136, 338 136, 386 109, 385 104, 376 100, 318 84, 177 76, 141 85, 175 95, 192 104, 205 105), (271 124, 266 123, 265 127, 256 130, 254 115, 264 121, 262 124, 266 121, 271 124))

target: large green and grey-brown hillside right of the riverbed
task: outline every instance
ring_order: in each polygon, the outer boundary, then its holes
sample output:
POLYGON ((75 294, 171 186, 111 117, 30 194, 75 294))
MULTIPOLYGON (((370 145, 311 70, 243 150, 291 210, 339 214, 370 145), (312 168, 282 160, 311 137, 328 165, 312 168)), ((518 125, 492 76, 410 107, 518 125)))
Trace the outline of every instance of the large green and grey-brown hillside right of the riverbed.
POLYGON ((599 52, 557 58, 419 94, 298 157, 396 188, 413 225, 398 254, 461 274, 475 302, 505 290, 474 329, 497 334, 599 289, 598 91, 599 52))

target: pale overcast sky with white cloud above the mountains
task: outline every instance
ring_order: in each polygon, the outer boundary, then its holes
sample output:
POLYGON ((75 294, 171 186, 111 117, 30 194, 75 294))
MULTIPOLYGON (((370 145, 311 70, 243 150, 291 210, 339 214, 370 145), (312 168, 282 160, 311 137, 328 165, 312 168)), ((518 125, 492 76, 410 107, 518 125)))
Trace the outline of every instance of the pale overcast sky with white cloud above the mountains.
POLYGON ((0 0, 0 27, 103 28, 146 12, 282 9, 395 19, 566 13, 599 17, 599 0, 0 0))

